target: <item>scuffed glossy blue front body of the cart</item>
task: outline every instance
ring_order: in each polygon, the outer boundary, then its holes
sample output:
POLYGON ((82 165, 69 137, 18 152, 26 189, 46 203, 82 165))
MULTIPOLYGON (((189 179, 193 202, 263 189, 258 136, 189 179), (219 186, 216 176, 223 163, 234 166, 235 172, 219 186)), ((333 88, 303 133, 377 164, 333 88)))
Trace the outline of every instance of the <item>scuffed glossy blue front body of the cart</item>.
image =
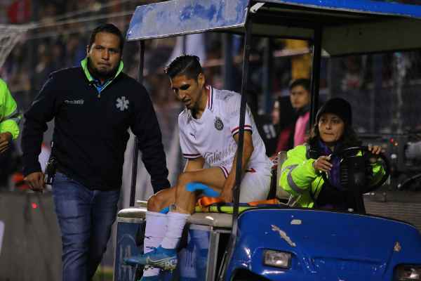
POLYGON ((253 209, 239 217, 227 280, 241 269, 269 280, 393 280, 396 266, 421 264, 420 253, 420 232, 408 223, 312 209, 253 209), (292 254, 290 268, 265 266, 265 250, 292 254))

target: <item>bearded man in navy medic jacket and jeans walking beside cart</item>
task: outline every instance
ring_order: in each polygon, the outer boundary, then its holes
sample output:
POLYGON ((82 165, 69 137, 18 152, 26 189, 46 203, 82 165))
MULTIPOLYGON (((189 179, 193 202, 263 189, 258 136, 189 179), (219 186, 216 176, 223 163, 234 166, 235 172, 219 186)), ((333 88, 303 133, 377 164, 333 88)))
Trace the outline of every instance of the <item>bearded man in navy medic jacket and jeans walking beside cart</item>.
POLYGON ((36 191, 44 190, 38 162, 43 132, 55 118, 50 159, 55 172, 48 176, 55 174, 63 281, 91 280, 102 259, 116 218, 129 128, 139 138, 154 192, 170 185, 151 100, 122 72, 123 42, 114 25, 95 28, 81 67, 53 72, 25 113, 24 174, 36 191))

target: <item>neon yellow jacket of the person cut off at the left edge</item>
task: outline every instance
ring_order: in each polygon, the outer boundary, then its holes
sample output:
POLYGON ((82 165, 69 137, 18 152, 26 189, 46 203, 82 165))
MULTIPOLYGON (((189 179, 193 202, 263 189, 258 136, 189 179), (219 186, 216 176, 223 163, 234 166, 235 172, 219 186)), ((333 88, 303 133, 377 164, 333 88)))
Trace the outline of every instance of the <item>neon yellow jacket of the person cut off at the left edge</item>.
POLYGON ((14 140, 18 138, 20 119, 18 106, 6 83, 0 79, 0 133, 9 132, 14 140))

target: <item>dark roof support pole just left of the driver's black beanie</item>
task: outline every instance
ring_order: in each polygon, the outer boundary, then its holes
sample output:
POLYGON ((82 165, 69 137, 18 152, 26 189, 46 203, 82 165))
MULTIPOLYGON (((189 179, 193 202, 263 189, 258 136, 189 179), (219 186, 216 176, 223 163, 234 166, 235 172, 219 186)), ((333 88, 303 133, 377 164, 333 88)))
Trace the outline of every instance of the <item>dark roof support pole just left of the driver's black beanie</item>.
POLYGON ((313 63, 312 63, 312 102, 310 107, 310 130, 316 122, 316 113, 319 109, 319 86, 320 86, 320 65, 321 65, 321 26, 314 29, 313 41, 313 63))

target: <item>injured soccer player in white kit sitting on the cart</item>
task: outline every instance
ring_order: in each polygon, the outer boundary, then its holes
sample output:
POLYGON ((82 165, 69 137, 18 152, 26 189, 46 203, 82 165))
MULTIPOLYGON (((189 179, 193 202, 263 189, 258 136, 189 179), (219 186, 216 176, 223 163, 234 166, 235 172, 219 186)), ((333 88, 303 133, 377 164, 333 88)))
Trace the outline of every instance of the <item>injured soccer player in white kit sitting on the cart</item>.
MULTIPOLYGON (((178 126, 187 164, 173 188, 161 190, 148 200, 145 254, 126 259, 128 264, 148 265, 142 280, 159 280, 160 268, 175 268, 175 249, 198 196, 219 195, 224 202, 232 202, 236 177, 241 95, 208 86, 199 58, 194 55, 175 58, 166 74, 175 96, 185 105, 178 126), (205 163, 209 167, 203 169, 205 163), (174 208, 168 214, 160 212, 170 205, 174 208)), ((248 107, 244 129, 240 202, 265 200, 272 162, 248 107)))

